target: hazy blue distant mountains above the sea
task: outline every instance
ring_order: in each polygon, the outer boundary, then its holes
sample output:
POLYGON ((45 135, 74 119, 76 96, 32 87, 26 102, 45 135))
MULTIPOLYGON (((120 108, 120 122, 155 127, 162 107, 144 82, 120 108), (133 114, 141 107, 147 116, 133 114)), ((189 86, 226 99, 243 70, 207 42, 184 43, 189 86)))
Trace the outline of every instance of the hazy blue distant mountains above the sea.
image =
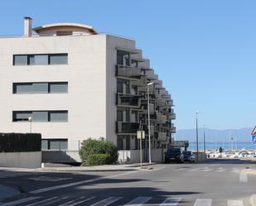
MULTIPOLYGON (((241 128, 241 129, 226 129, 226 130, 215 130, 205 128, 205 140, 208 142, 224 141, 229 142, 230 138, 233 137, 238 142, 249 142, 251 141, 252 128, 241 128)), ((198 129, 198 139, 203 141, 204 129, 198 129)), ((188 140, 196 141, 196 128, 195 129, 181 129, 176 132, 176 140, 188 140)))

